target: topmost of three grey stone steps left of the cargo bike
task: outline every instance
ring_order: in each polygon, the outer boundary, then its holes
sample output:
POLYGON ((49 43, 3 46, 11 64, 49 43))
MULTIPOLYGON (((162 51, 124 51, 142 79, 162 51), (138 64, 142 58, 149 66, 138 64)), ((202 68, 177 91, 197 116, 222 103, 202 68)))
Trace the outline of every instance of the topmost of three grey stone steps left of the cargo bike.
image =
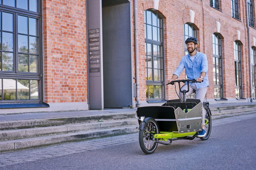
POLYGON ((105 122, 114 120, 124 120, 135 118, 135 112, 131 113, 115 113, 115 114, 104 114, 104 115, 86 115, 76 117, 56 117, 56 118, 45 118, 45 119, 31 119, 31 120, 17 120, 17 121, 4 121, 0 122, 0 130, 9 129, 23 129, 23 128, 39 128, 39 127, 51 127, 61 126, 68 124, 78 123, 94 123, 94 122, 105 122))

